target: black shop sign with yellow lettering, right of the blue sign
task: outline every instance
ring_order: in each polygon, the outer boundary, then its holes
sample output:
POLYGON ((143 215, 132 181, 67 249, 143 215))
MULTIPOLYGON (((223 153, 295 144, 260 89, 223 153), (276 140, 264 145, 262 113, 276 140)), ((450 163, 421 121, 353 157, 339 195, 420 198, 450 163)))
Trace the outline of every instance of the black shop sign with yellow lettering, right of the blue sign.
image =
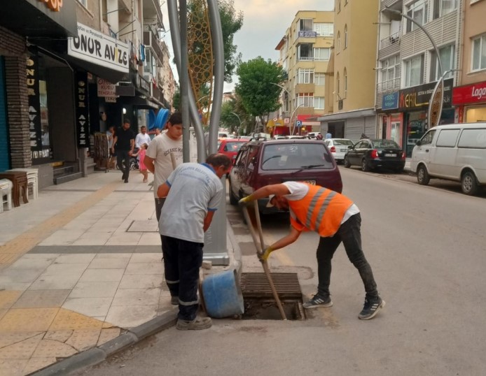
MULTIPOLYGON (((437 82, 430 82, 425 85, 408 87, 400 90, 398 98, 398 109, 401 111, 410 111, 417 108, 425 108, 429 106, 429 101, 433 89, 437 82)), ((444 99, 443 107, 450 107, 452 103, 452 78, 444 80, 444 99)))

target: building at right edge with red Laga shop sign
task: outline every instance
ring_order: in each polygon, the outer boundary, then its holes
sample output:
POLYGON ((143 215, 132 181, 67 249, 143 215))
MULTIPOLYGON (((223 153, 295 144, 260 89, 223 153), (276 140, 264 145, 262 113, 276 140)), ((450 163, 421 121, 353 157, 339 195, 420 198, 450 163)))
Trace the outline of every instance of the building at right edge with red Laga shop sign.
POLYGON ((486 122, 486 1, 464 0, 459 82, 452 89, 457 122, 486 122))

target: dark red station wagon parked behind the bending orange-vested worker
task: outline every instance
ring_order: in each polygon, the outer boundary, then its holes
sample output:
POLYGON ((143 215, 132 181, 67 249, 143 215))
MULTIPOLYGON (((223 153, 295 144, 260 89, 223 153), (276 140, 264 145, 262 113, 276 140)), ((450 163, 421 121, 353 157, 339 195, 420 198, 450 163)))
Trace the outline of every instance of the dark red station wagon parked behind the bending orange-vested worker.
MULTIPOLYGON (((230 203, 252 194, 265 185, 286 181, 309 182, 342 191, 341 175, 322 140, 255 140, 242 146, 230 172, 230 203)), ((258 200, 261 212, 268 198, 258 200)))

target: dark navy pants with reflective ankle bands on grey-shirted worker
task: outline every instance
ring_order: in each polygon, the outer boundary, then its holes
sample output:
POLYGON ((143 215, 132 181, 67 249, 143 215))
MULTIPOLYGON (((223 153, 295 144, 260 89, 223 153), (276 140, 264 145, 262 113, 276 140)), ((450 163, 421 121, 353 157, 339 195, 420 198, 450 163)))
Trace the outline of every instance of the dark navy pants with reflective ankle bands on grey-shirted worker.
POLYGON ((196 318, 202 246, 202 243, 162 235, 165 281, 171 296, 179 296, 178 318, 181 320, 192 321, 196 318))

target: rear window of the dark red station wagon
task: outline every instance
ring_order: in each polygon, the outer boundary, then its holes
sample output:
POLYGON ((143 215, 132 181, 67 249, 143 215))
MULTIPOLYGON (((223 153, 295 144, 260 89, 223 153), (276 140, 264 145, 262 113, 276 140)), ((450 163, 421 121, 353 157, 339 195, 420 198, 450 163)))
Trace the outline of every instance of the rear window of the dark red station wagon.
POLYGON ((321 143, 268 143, 263 149, 263 170, 333 168, 333 160, 321 143))

